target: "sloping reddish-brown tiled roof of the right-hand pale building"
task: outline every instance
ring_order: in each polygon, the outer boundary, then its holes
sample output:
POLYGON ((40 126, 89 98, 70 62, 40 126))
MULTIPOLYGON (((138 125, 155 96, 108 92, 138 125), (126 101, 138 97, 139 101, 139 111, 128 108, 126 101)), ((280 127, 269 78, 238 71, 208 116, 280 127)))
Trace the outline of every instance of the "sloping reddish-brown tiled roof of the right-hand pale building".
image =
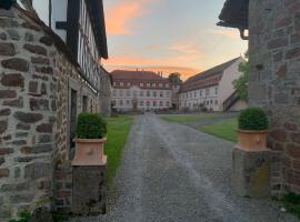
POLYGON ((180 92, 187 92, 206 87, 217 85, 222 78, 223 71, 231 67, 234 62, 240 60, 241 57, 232 59, 228 62, 213 67, 207 71, 189 78, 181 87, 180 92))

